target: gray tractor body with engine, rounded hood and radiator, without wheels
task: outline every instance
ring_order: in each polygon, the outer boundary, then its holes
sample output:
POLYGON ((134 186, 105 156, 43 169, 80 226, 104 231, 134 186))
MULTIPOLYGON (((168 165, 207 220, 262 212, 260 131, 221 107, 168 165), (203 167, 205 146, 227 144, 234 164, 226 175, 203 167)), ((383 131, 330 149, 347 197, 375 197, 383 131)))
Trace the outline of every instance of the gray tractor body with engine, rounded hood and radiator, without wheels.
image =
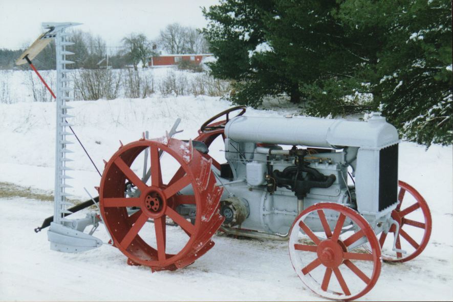
MULTIPOLYGON (((398 134, 378 114, 368 122, 239 116, 225 136, 218 183, 227 233, 285 238, 301 211, 322 202, 376 227, 397 201, 398 134)), ((321 229, 317 218, 311 225, 321 229)))

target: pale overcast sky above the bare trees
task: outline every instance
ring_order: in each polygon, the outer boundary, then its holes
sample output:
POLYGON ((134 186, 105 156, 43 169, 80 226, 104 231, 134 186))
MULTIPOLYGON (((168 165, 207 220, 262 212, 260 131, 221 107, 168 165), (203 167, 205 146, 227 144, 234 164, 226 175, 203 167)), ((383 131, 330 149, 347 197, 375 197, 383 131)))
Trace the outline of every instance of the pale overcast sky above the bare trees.
POLYGON ((204 27, 202 6, 218 0, 0 0, 0 48, 30 45, 42 22, 77 22, 77 28, 100 35, 107 46, 120 46, 123 36, 142 32, 157 37, 167 24, 204 27))

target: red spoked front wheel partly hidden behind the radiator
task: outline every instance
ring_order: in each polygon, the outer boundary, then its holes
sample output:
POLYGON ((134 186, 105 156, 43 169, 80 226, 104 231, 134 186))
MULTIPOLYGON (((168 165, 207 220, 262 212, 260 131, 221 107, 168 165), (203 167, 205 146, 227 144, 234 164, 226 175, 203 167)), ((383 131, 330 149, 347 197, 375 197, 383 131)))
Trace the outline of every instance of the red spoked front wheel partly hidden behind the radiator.
POLYGON ((382 232, 379 243, 382 248, 382 258, 390 262, 405 262, 414 259, 426 248, 431 236, 432 218, 425 199, 412 186, 398 181, 398 205, 392 211, 392 218, 399 226, 396 248, 406 251, 405 254, 393 251, 396 228, 392 226, 389 233, 382 232), (406 194, 409 193, 409 194, 406 194))

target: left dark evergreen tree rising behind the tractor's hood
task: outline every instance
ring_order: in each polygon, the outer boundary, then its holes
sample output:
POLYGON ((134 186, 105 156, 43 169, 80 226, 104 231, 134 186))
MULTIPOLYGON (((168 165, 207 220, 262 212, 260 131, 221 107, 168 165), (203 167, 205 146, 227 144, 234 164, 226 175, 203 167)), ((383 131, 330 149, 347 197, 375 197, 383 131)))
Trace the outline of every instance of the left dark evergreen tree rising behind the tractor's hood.
MULTIPOLYGON (((235 103, 256 106, 267 95, 287 95, 323 113, 322 101, 334 97, 340 105, 329 107, 345 113, 342 96, 357 86, 356 72, 368 59, 335 19, 338 7, 335 1, 226 0, 204 9, 211 21, 204 34, 218 57, 213 75, 236 81, 235 103)), ((356 107, 346 113, 370 108, 356 107)))

